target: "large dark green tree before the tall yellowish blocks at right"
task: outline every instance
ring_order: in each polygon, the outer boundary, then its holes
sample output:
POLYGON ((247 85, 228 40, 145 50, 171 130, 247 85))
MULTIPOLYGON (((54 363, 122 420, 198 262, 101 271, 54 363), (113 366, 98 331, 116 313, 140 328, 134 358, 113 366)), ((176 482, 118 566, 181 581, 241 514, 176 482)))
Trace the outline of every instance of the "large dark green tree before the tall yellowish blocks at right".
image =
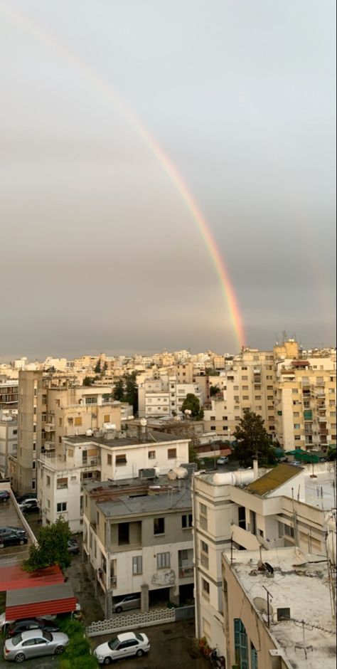
POLYGON ((262 465, 275 462, 275 451, 264 428, 264 420, 257 413, 247 409, 243 418, 240 418, 233 436, 236 441, 235 456, 240 464, 252 465, 255 456, 262 465))

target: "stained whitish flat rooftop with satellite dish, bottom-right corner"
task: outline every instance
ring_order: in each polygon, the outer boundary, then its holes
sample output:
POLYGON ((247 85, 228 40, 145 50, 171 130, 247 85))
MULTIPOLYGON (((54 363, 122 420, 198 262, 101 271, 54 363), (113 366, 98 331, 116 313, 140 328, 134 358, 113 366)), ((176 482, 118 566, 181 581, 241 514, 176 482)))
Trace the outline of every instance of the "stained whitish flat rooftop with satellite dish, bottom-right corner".
MULTIPOLYGON (((230 563, 230 552, 225 553, 230 563)), ((272 596, 273 609, 270 633, 284 651, 289 666, 297 669, 336 668, 336 623, 331 611, 326 561, 310 562, 313 556, 301 554, 298 549, 279 548, 262 552, 262 561, 267 560, 274 568, 274 578, 257 571, 260 559, 258 551, 235 551, 233 570, 253 608, 255 598, 266 600, 267 588, 272 596), (257 575, 250 576, 250 571, 257 575), (263 587, 264 586, 264 587, 263 587), (290 620, 277 621, 277 609, 290 609, 290 620), (307 659, 302 648, 303 626, 307 659)), ((267 622, 267 616, 260 613, 267 622)))

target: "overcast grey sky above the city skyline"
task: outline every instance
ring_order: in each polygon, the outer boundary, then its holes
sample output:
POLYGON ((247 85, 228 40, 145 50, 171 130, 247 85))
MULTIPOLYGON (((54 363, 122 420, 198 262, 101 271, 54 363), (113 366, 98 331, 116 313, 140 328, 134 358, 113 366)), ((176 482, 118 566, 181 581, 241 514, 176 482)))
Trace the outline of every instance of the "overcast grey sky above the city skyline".
POLYGON ((0 359, 335 344, 333 0, 0 0, 0 359), (102 81, 106 85, 102 85, 102 81))

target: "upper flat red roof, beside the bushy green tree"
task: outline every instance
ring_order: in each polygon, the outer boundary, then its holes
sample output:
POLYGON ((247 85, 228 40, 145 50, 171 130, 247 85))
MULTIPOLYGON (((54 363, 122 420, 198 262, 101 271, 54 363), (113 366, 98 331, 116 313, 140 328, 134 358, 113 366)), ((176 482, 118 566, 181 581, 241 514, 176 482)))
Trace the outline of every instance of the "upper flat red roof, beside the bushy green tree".
POLYGON ((64 583, 64 576, 58 564, 46 569, 38 569, 31 574, 18 565, 0 568, 0 591, 35 588, 36 586, 64 583))

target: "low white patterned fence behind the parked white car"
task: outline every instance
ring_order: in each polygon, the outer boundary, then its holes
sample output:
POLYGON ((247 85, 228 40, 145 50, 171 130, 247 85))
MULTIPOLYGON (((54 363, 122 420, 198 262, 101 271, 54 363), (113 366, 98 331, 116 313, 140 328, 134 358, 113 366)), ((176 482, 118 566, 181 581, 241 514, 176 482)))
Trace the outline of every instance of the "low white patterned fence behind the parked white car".
POLYGON ((139 627, 175 623, 188 618, 194 618, 194 606, 181 606, 177 609, 151 609, 146 613, 133 613, 129 616, 116 615, 109 620, 97 621, 86 628, 86 633, 87 636, 100 636, 100 634, 122 632, 139 627))

